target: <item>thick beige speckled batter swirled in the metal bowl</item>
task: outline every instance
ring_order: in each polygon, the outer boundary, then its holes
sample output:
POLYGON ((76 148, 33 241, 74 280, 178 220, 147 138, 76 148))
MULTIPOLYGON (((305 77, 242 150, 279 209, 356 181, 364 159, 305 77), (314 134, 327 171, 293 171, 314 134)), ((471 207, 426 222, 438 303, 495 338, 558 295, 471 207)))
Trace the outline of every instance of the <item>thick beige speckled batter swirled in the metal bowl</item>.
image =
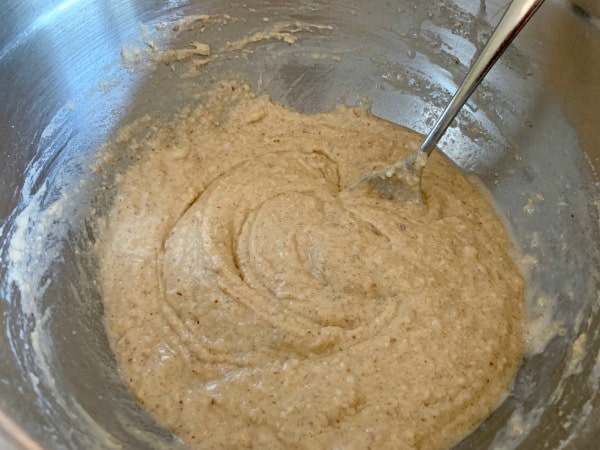
POLYGON ((455 443, 522 352, 523 280, 485 195, 435 154, 424 208, 344 190, 419 136, 235 83, 208 97, 131 143, 98 243, 139 401, 192 448, 455 443))

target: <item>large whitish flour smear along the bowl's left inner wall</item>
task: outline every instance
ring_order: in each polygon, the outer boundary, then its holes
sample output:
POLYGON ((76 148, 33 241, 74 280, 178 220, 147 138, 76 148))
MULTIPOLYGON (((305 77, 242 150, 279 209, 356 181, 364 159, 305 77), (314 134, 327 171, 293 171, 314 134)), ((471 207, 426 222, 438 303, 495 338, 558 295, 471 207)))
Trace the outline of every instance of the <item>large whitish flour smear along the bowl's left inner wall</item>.
POLYGON ((13 319, 19 323, 18 334, 9 334, 8 341, 29 378, 39 408, 48 415, 58 410, 68 414, 73 408, 73 402, 63 396, 56 383, 50 330, 53 306, 45 298, 53 268, 62 262, 68 233, 84 204, 87 181, 81 174, 68 172, 52 172, 47 158, 31 165, 24 182, 23 207, 5 225, 6 238, 0 246, 0 259, 6 268, 0 295, 12 303, 13 311, 19 311, 18 318, 13 319), (40 174, 45 174, 45 182, 34 191, 40 174))

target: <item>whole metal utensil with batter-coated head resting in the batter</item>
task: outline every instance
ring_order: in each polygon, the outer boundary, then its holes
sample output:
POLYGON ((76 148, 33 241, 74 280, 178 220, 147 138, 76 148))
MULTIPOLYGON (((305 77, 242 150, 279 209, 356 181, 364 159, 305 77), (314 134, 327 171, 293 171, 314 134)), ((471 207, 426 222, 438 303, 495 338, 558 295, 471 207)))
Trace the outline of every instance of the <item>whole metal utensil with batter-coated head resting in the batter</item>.
POLYGON ((419 148, 390 167, 366 174, 350 188, 367 182, 374 191, 386 198, 422 203, 421 173, 427 163, 427 157, 475 88, 543 2, 544 0, 513 0, 471 66, 462 85, 419 148))

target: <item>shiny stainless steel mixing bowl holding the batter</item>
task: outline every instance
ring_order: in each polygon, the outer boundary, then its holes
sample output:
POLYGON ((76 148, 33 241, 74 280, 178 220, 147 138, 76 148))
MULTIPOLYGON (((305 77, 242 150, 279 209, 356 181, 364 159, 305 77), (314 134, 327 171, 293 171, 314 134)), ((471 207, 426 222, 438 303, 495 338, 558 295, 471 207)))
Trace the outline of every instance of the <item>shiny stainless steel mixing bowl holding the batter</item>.
MULTIPOLYGON (((600 445, 600 19, 595 0, 573 1, 546 2, 440 145, 488 187, 530 271, 528 355, 459 449, 600 445)), ((91 223, 113 174, 92 162, 119 124, 169 117, 232 71, 300 111, 366 101, 426 131, 505 4, 4 2, 0 447, 182 445, 121 383, 102 324, 91 223), (220 22, 179 29, 193 14, 220 22), (183 62, 146 64, 156 46, 219 48, 283 22, 294 45, 255 42, 193 77, 183 62)))

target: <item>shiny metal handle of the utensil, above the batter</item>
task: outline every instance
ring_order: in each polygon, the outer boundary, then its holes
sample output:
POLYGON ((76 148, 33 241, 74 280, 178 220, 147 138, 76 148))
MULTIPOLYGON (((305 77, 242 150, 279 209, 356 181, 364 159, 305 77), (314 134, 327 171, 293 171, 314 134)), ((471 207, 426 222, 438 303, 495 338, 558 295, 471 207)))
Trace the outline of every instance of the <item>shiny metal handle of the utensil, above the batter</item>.
POLYGON ((544 0, 513 0, 511 2, 489 41, 485 44, 485 47, 483 47, 483 50, 481 50, 481 53, 471 66, 465 80, 429 134, 425 137, 425 140, 421 143, 419 147, 421 152, 424 152, 428 156, 431 154, 435 145, 446 132, 446 129, 450 126, 452 120, 454 120, 475 88, 479 86, 485 75, 542 3, 544 3, 544 0))

